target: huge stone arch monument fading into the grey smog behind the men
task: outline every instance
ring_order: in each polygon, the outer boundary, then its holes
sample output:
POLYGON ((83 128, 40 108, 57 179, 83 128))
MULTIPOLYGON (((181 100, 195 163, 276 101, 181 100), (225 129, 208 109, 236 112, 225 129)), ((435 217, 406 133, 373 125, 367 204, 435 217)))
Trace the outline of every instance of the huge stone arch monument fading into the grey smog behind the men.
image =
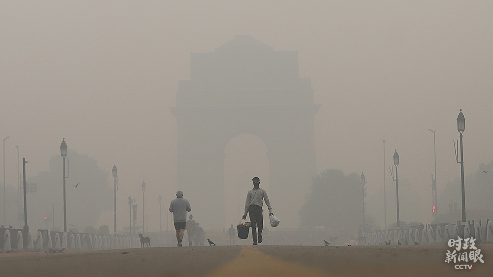
POLYGON ((317 173, 319 109, 310 78, 299 77, 298 52, 273 51, 250 35, 238 35, 213 53, 191 53, 190 72, 190 80, 179 82, 172 112, 177 186, 196 208, 194 216, 208 218, 201 224, 208 229, 226 226, 224 149, 233 137, 253 134, 267 146, 274 213, 282 227, 297 227, 317 173))

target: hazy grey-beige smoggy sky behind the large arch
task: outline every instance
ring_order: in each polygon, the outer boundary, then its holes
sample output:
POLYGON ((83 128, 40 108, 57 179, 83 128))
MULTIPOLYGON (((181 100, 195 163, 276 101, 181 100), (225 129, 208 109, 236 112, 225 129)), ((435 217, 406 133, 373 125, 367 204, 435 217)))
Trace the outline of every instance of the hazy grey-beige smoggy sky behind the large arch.
MULTIPOLYGON (((65 138, 69 149, 95 158, 108 174, 116 164, 119 209, 128 209, 129 195, 141 199, 145 180, 146 211, 159 216, 157 195, 166 208, 175 197, 170 108, 178 81, 190 78, 190 53, 213 52, 238 34, 274 51, 298 51, 300 77, 312 79, 321 104, 317 172, 363 171, 367 201, 380 199, 374 194, 383 186, 384 139, 387 166, 397 149, 399 179, 431 199, 428 128, 436 129, 438 197, 460 178, 453 146, 459 108, 466 118, 465 174, 493 158, 491 1, 1 0, 0 6, 7 186, 17 182, 15 145, 29 160, 29 177, 48 170, 65 138)), ((228 152, 244 152, 241 144, 234 147, 228 152)), ((242 201, 250 179, 238 192, 242 201)), ((387 199, 387 209, 394 201, 387 199)), ((119 220, 127 222, 125 216, 119 220)), ((112 226, 112 211, 101 222, 112 226)), ((159 230, 159 221, 148 222, 159 230)))

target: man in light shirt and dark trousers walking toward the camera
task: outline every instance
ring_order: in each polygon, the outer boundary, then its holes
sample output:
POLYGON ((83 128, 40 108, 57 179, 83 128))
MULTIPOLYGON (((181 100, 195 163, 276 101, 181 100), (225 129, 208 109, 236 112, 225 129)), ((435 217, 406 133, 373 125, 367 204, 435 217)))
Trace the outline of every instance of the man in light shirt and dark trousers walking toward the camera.
POLYGON ((246 219, 246 214, 248 213, 251 222, 251 232, 253 238, 253 245, 257 245, 258 243, 262 243, 262 229, 264 225, 264 219, 262 217, 262 205, 263 201, 267 204, 267 208, 269 209, 269 215, 274 215, 272 213, 271 203, 269 202, 269 197, 267 196, 267 192, 265 189, 260 188, 260 178, 253 177, 253 189, 248 191, 246 194, 246 202, 245 202, 245 214, 243 215, 243 219, 246 219), (258 227, 258 240, 257 240, 257 227, 258 227))

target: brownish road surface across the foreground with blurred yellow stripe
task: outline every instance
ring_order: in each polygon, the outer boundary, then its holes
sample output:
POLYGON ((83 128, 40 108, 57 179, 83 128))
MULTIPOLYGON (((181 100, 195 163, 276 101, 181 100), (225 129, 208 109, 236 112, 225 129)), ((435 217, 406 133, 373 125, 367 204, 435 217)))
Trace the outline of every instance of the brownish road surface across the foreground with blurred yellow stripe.
POLYGON ((198 246, 0 254, 0 276, 493 276, 493 245, 458 270, 443 246, 198 246))

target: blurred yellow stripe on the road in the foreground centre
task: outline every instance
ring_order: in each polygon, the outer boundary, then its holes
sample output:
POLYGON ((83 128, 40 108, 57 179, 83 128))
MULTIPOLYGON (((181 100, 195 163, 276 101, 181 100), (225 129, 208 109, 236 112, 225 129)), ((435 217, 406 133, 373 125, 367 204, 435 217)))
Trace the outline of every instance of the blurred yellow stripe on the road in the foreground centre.
POLYGON ((208 276, 326 276, 320 271, 303 265, 285 262, 255 249, 243 246, 238 257, 220 266, 208 276))

